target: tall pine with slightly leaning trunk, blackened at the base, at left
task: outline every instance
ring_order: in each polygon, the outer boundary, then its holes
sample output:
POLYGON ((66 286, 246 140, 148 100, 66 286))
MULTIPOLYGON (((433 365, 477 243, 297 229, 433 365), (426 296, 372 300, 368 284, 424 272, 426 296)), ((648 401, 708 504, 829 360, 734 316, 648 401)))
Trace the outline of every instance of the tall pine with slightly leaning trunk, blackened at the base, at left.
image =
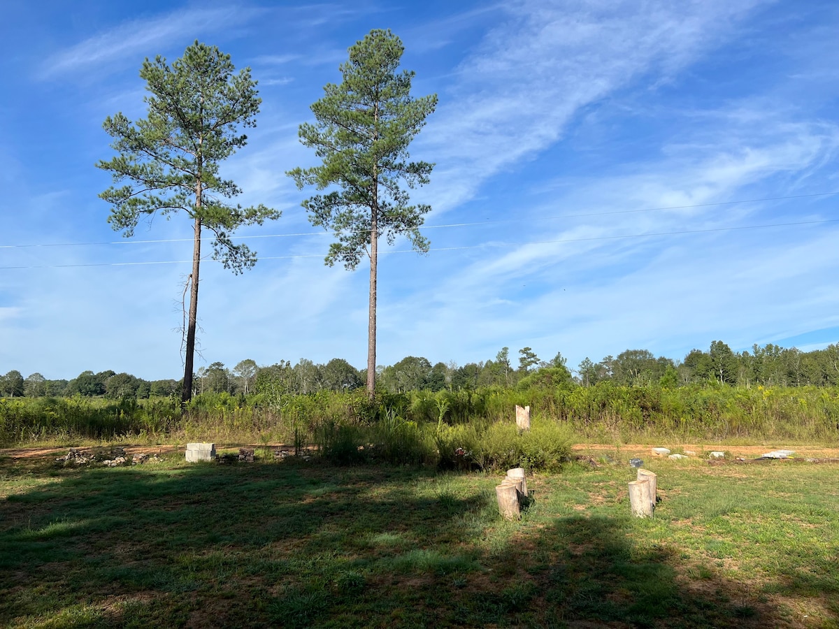
POLYGON ((242 127, 255 127, 259 111, 256 81, 250 68, 234 74, 230 55, 215 46, 190 45, 169 67, 158 56, 145 60, 140 77, 146 81, 149 116, 130 122, 122 113, 107 117, 105 131, 114 138, 118 155, 96 166, 112 173, 115 183, 100 196, 113 205, 108 222, 125 237, 133 236, 138 221, 155 214, 183 211, 193 223, 190 304, 185 325, 184 387, 181 399, 192 397, 195 326, 198 312, 198 277, 201 234, 209 230, 213 257, 233 273, 256 263, 246 245, 234 245, 231 234, 239 226, 261 225, 279 218, 279 211, 264 205, 242 208, 227 199, 239 195, 235 183, 219 177, 219 164, 248 136, 242 127))

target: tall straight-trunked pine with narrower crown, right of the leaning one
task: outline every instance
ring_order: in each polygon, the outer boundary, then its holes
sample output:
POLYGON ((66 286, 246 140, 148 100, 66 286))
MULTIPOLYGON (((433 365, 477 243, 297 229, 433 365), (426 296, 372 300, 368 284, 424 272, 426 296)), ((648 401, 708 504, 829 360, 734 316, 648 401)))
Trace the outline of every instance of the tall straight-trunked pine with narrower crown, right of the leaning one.
POLYGON ((327 84, 324 97, 311 106, 317 122, 300 125, 300 142, 314 148, 322 163, 289 171, 301 190, 306 185, 326 190, 303 202, 312 224, 336 237, 326 264, 341 262, 354 270, 364 256, 370 259, 367 391, 371 397, 376 386, 379 237, 393 244, 397 236, 405 236, 420 252, 429 247, 419 228, 431 207, 408 205, 408 192, 401 185, 414 188, 429 182, 434 164, 409 161, 408 145, 434 112, 437 96, 410 96, 414 72, 399 72, 403 52, 399 37, 378 29, 350 48, 349 60, 341 65, 341 84, 327 84))

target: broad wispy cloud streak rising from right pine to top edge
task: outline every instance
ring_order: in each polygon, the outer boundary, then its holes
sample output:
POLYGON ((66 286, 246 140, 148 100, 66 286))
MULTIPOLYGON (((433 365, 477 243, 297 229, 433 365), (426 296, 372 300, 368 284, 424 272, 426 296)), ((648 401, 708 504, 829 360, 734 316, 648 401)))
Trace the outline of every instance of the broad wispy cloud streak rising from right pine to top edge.
POLYGON ((458 205, 487 177, 555 143, 583 108, 674 75, 756 4, 510 3, 419 141, 439 164, 436 206, 458 205))

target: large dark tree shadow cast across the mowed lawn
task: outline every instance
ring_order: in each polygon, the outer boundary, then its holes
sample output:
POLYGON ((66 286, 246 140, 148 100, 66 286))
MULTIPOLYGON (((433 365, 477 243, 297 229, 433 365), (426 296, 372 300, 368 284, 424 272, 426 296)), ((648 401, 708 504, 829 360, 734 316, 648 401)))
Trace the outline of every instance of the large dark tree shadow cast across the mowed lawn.
POLYGON ((0 502, 4 626, 783 623, 715 574, 681 585, 629 518, 502 522, 485 476, 29 465, 0 460, 44 481, 0 502))

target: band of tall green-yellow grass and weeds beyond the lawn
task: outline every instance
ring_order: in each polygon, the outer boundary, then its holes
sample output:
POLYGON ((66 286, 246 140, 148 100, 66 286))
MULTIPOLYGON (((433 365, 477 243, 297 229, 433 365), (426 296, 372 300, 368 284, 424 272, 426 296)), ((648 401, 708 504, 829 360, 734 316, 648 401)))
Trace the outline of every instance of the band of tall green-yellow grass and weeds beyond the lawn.
MULTIPOLYGON (((667 388, 602 382, 593 387, 382 393, 375 402, 363 390, 247 398, 206 393, 195 397, 183 413, 175 398, 0 399, 0 446, 207 439, 314 443, 328 450, 352 443, 356 452, 364 453, 355 458, 374 452, 380 460, 398 463, 435 459, 451 469, 488 467, 496 465, 492 461, 510 460, 501 450, 490 452, 481 444, 504 441, 505 431, 514 430, 515 404, 531 407, 534 431, 529 439, 542 430, 535 428, 540 423, 580 439, 607 443, 649 439, 830 443, 839 439, 837 387, 667 388)), ((564 437, 545 436, 539 447, 546 454, 529 450, 526 456, 555 459, 550 454, 551 439, 564 437)), ((523 452, 519 448, 511 456, 521 458, 523 452)))

